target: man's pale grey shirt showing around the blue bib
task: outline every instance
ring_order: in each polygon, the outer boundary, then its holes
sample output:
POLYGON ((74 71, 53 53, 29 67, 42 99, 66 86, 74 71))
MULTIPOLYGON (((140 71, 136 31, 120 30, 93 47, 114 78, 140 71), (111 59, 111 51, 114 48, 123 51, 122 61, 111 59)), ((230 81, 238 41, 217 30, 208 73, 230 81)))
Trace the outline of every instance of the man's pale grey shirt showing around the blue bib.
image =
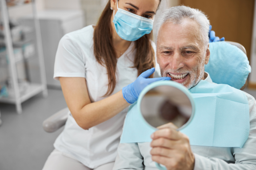
MULTIPOLYGON (((207 75, 205 81, 213 83, 210 75, 207 75)), ((256 170, 256 100, 248 93, 245 95, 250 110, 250 133, 244 146, 191 145, 195 155, 194 170, 256 170)), ((113 170, 158 170, 151 159, 151 149, 150 142, 120 143, 113 170)))

